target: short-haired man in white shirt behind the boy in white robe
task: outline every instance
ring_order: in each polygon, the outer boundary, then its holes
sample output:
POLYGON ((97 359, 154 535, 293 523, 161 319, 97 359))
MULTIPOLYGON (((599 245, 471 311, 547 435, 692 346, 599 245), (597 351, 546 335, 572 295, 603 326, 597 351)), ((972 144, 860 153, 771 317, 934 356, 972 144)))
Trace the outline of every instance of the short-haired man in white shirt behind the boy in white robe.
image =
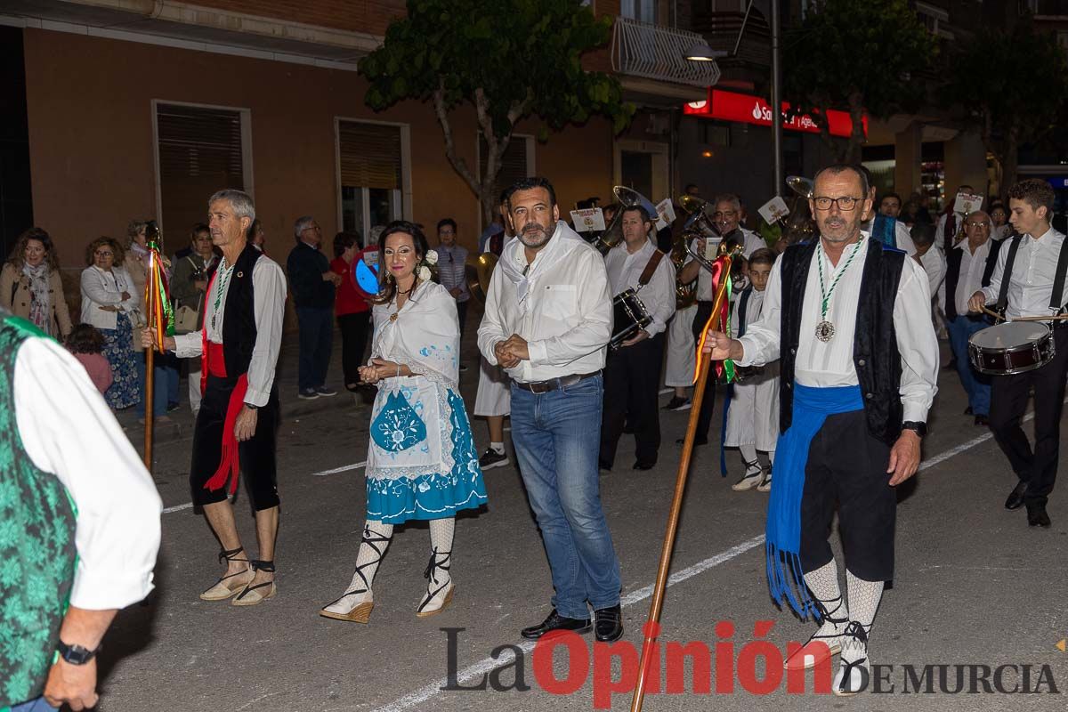
MULTIPOLYGON (((718 235, 709 238, 712 249, 718 246, 728 235, 738 231, 742 239, 742 257, 749 257, 755 250, 767 248, 767 241, 751 230, 740 226, 741 220, 745 217, 741 209, 741 201, 733 193, 717 195, 712 201, 712 221, 716 224, 718 235)), ((700 255, 706 254, 707 242, 705 239, 696 239, 691 246, 691 252, 700 255)), ((694 279, 697 280, 697 312, 693 317, 693 343, 690 349, 696 348, 696 343, 701 338, 701 332, 705 329, 708 317, 712 315, 712 300, 716 298, 712 289, 712 273, 706 269, 701 262, 694 259, 693 255, 687 255, 686 262, 678 270, 678 281, 689 284, 694 279)), ((708 428, 712 422, 712 410, 716 408, 716 379, 709 378, 705 384, 705 395, 701 404, 701 413, 697 415, 697 431, 694 436, 694 445, 708 444, 708 428)), ((681 444, 679 438, 676 443, 681 444)))

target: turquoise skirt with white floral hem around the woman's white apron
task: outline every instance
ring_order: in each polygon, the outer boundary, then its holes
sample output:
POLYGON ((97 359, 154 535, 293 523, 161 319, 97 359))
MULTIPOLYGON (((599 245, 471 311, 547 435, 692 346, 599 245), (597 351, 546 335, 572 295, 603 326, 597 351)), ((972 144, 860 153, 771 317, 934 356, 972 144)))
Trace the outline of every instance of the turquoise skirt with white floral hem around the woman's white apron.
MULTIPOLYGON (((441 420, 442 425, 447 422, 447 427, 442 428, 445 437, 441 446, 452 448, 450 459, 453 468, 447 472, 400 477, 378 477, 375 472, 368 471, 368 520, 400 524, 410 519, 443 519, 454 517, 460 509, 474 509, 486 503, 486 485, 478 466, 478 454, 474 448, 464 399, 451 389, 444 389, 444 394, 446 408, 441 413, 441 420)), ((435 427, 439 424, 426 425, 435 427)), ((419 438, 419 434, 415 437, 419 438)))

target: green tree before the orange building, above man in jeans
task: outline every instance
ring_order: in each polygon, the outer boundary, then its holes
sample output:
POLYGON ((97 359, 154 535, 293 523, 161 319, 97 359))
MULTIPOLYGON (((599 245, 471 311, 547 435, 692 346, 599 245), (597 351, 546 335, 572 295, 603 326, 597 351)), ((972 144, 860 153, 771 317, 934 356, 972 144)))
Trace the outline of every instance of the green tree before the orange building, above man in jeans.
POLYGON ((600 114, 623 130, 633 106, 615 78, 582 68, 582 54, 603 46, 612 18, 595 18, 579 0, 408 0, 386 42, 360 62, 380 111, 405 99, 429 101, 444 132, 445 156, 492 220, 494 181, 516 123, 536 115, 539 140, 550 129, 600 114), (481 180, 457 155, 454 112, 474 107, 488 146, 481 180))

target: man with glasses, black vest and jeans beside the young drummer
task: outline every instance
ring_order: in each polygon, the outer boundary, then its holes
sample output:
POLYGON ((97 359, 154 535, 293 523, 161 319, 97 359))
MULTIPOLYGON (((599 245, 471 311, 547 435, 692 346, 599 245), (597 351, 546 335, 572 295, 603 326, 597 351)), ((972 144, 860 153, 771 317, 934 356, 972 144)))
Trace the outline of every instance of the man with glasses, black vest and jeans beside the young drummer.
POLYGON ((998 249, 1001 242, 990 239, 990 216, 977 210, 964 219, 968 239, 958 242, 946 255, 945 326, 949 330, 949 347, 957 361, 960 384, 968 394, 964 415, 974 415, 975 425, 987 425, 990 416, 990 378, 972 367, 968 358, 968 339, 990 326, 983 314, 970 314, 968 300, 990 285, 998 249))

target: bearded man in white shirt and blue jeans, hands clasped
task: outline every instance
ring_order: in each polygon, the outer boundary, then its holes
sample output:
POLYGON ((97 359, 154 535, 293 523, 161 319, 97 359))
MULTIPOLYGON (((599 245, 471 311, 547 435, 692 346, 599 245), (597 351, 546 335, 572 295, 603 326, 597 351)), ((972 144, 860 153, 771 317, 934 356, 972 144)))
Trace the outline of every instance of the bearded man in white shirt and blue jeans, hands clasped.
POLYGON ((612 296, 600 253, 560 220, 545 178, 505 191, 509 233, 489 282, 478 349, 512 377, 512 441, 545 542, 552 611, 522 636, 623 635, 619 563, 597 472, 612 296))

